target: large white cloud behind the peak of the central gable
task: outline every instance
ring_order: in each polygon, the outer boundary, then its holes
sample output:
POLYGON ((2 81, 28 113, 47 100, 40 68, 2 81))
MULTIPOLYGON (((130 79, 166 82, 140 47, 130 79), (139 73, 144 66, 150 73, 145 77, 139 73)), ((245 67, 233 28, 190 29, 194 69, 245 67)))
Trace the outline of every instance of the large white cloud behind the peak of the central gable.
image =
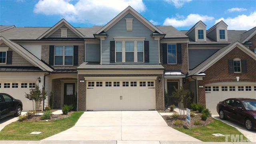
POLYGON ((137 12, 146 10, 142 0, 78 0, 75 4, 70 0, 39 0, 34 12, 60 15, 70 22, 102 25, 128 6, 132 6, 137 12))

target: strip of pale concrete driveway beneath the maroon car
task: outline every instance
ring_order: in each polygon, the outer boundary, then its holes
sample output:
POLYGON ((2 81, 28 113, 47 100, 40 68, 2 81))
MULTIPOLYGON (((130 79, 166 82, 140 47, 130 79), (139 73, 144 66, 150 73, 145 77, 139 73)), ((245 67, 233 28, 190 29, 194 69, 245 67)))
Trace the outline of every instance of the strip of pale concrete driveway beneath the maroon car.
POLYGON ((251 142, 256 142, 256 130, 254 130, 254 131, 246 130, 246 128, 242 124, 238 124, 232 120, 221 120, 220 116, 218 114, 214 114, 214 115, 212 115, 212 117, 217 120, 220 120, 230 126, 233 126, 239 132, 241 132, 244 136, 246 136, 246 138, 248 138, 248 140, 250 140, 251 142))

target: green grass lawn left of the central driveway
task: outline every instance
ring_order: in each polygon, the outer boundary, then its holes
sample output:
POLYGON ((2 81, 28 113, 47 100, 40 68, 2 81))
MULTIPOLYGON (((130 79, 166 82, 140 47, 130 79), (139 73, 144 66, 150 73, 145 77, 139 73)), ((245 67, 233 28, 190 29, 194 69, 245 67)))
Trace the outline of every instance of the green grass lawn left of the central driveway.
POLYGON ((52 122, 12 122, 0 132, 0 140, 42 140, 71 128, 82 114, 83 112, 74 112, 68 118, 52 122))

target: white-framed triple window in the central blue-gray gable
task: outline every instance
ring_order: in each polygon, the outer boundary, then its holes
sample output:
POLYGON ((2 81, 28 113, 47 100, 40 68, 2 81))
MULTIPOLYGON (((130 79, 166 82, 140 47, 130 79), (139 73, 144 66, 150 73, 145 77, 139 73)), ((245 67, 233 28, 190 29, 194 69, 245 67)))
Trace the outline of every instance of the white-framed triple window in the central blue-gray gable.
POLYGON ((144 41, 116 41, 116 62, 144 62, 144 41))

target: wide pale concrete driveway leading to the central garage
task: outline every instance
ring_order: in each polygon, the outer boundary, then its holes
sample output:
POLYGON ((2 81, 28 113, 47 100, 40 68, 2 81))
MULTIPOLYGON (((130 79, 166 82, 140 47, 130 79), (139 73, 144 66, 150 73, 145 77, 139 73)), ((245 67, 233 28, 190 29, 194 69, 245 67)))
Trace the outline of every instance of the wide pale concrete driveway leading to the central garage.
POLYGON ((84 112, 76 125, 44 140, 194 141, 156 111, 84 112))

